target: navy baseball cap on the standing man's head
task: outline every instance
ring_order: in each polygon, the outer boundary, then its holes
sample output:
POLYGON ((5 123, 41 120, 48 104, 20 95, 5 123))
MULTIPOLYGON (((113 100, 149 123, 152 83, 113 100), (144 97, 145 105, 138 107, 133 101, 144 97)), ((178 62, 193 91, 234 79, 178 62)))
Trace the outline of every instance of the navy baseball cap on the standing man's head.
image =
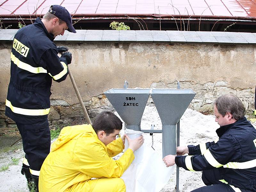
POLYGON ((76 33, 76 30, 72 25, 71 15, 65 7, 62 7, 60 5, 52 5, 49 12, 60 18, 61 20, 65 21, 67 23, 69 32, 76 33))

